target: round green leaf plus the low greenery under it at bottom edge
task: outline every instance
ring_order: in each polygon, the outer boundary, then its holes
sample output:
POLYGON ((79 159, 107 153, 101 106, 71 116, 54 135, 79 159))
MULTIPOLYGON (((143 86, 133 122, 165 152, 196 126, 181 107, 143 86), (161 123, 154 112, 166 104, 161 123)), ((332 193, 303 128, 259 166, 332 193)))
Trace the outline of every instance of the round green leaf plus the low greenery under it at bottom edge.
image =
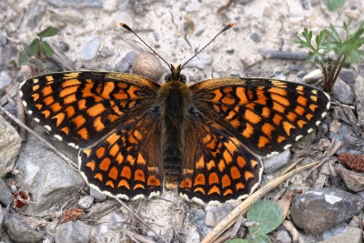
POLYGON ((253 204, 247 213, 248 221, 258 225, 249 227, 248 238, 233 238, 227 243, 269 243, 267 234, 278 228, 283 221, 283 210, 275 202, 259 200, 253 204))

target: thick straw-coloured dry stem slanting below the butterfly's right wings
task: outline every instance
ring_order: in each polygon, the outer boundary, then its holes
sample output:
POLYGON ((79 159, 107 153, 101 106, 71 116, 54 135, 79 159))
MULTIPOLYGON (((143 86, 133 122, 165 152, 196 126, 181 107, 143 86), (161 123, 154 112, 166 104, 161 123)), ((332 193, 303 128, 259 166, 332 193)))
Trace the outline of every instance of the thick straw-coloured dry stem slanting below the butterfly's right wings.
POLYGON ((327 160, 339 149, 340 146, 341 146, 340 144, 337 144, 335 147, 330 149, 329 153, 326 156, 324 156, 323 158, 321 158, 316 162, 312 162, 308 165, 298 167, 288 172, 287 174, 282 175, 281 177, 269 181, 267 185, 258 189, 258 191, 251 194, 247 199, 245 199, 242 203, 240 203, 237 208, 232 210, 227 215, 227 218, 224 218, 222 221, 220 221, 217 224, 217 226, 207 234, 207 236, 201 241, 201 243, 213 242, 219 235, 221 235, 225 230, 227 230, 227 228, 229 228, 234 224, 235 220, 238 218, 239 215, 245 214, 248 211, 250 205, 258 201, 260 197, 266 195, 273 188, 278 187, 278 185, 282 183, 284 180, 288 179, 288 177, 292 177, 298 174, 299 172, 308 169, 309 167, 314 167, 316 165, 319 165, 322 161, 327 160))

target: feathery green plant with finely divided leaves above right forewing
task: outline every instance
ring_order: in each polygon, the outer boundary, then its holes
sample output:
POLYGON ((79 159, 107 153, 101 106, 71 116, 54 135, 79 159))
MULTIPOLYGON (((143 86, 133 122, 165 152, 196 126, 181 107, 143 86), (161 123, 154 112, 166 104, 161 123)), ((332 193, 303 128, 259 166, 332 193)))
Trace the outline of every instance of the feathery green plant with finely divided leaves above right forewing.
POLYGON ((302 32, 303 38, 297 36, 295 42, 300 48, 308 48, 308 62, 318 62, 321 66, 324 75, 325 91, 330 91, 334 86, 335 81, 338 79, 339 73, 345 62, 360 63, 364 60, 364 51, 362 45, 364 44, 364 22, 360 23, 358 29, 350 34, 349 27, 351 20, 348 23, 343 23, 343 30, 345 37, 341 38, 339 32, 334 25, 329 25, 329 29, 324 29, 319 32, 315 37, 316 45, 312 42, 312 31, 304 28, 302 32), (329 52, 334 52, 336 59, 327 58, 329 52))

